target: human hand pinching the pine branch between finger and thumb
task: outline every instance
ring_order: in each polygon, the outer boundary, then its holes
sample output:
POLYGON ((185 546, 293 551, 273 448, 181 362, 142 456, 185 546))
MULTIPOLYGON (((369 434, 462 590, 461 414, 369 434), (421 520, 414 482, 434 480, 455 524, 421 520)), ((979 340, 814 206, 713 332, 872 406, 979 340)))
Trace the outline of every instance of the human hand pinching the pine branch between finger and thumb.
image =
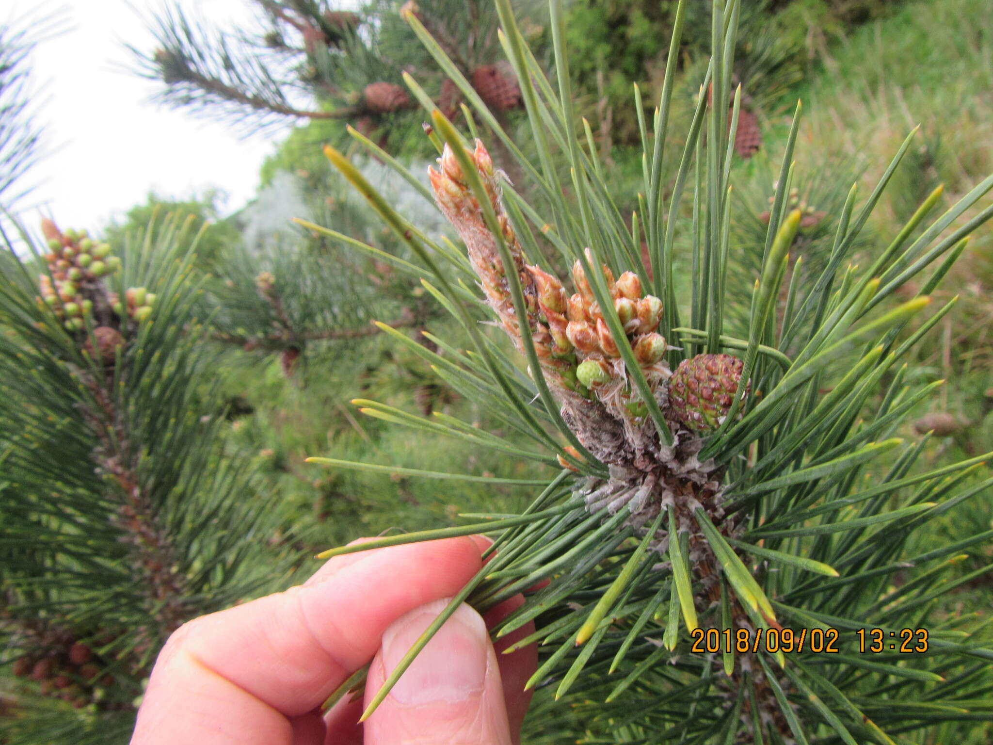
POLYGON ((375 712, 361 701, 321 704, 370 660, 366 703, 414 641, 481 566, 489 541, 447 538, 337 556, 286 592, 195 619, 163 648, 131 745, 510 745, 530 702, 534 646, 497 654, 533 632, 497 642, 463 604, 375 712))

